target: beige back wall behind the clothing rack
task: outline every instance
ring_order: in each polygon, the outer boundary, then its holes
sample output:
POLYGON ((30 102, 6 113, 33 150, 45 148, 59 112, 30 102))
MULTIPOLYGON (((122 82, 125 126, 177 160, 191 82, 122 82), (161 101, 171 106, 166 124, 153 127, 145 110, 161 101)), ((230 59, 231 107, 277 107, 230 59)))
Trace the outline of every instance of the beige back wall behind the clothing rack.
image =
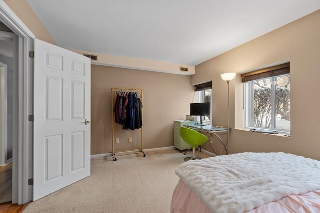
MULTIPOLYGON (((111 152, 111 87, 143 89, 143 149, 173 146, 173 120, 185 119, 193 96, 190 76, 92 65, 91 155, 111 152)), ((114 124, 115 151, 139 148, 141 130, 121 127, 114 124)))

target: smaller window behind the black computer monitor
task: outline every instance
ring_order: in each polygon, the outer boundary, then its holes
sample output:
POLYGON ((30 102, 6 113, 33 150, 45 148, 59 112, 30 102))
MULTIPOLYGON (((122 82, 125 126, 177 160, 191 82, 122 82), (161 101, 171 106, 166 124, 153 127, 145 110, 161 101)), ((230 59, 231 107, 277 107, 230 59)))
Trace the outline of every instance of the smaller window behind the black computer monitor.
MULTIPOLYGON (((202 122, 204 124, 211 124, 212 118, 212 102, 211 102, 211 90, 212 82, 206 82, 203 84, 194 85, 194 91, 196 94, 196 101, 194 103, 210 103, 210 116, 202 116, 202 122)), ((200 116, 197 116, 197 121, 200 121, 200 116)))

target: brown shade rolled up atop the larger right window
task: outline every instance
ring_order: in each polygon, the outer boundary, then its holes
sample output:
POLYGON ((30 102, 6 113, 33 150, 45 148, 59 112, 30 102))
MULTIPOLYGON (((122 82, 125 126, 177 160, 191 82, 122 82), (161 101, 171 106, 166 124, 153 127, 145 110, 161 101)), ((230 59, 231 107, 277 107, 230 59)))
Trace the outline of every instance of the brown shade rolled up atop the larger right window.
POLYGON ((290 62, 241 74, 242 82, 290 73, 290 62))

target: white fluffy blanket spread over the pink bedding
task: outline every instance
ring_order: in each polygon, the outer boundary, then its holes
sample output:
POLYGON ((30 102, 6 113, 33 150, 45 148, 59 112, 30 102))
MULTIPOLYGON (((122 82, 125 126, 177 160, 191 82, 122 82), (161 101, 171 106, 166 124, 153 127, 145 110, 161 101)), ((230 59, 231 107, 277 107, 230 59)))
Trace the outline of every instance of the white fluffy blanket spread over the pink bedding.
POLYGON ((181 164, 175 174, 212 213, 243 213, 320 189, 320 161, 285 153, 238 153, 181 164))

